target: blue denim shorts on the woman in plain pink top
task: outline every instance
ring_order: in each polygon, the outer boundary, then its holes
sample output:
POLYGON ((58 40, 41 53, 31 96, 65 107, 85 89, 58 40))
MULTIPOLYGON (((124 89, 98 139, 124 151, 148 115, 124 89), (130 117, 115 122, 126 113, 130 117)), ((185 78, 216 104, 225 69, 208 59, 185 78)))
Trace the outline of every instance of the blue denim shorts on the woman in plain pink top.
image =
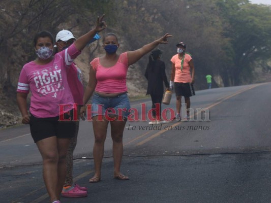
MULTIPOLYGON (((131 106, 127 93, 119 94, 115 97, 103 97, 95 92, 91 103, 91 117, 98 115, 117 115, 123 120, 127 119, 129 116, 130 108, 131 106)), ((87 113, 89 113, 89 110, 87 113)))

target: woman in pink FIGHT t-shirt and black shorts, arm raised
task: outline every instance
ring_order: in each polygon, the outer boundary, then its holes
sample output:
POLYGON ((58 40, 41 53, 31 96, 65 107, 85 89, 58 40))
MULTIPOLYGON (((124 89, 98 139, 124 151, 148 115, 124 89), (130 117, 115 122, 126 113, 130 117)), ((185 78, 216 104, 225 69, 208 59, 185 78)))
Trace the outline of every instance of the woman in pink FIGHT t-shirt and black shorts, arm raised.
POLYGON ((106 25, 104 15, 97 19, 96 27, 76 40, 68 49, 54 56, 53 37, 50 32, 39 32, 34 38, 38 58, 26 63, 21 70, 17 103, 22 123, 29 124, 31 135, 43 159, 43 178, 50 201, 59 203, 66 176, 66 154, 70 138, 74 136, 73 96, 67 81, 67 70, 89 40, 106 25), (31 91, 31 106, 27 112, 26 98, 31 91), (59 105, 65 105, 64 114, 59 105), (66 119, 66 121, 63 121, 66 119))

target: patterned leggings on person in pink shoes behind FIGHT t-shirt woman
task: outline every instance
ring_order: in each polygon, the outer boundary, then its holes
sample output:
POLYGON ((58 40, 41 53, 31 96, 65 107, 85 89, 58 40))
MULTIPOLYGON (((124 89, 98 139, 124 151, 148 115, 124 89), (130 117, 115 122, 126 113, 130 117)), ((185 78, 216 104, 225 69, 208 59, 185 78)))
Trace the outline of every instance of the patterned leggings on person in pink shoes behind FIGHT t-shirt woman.
POLYGON ((73 185, 73 151, 77 143, 78 130, 79 130, 79 121, 76 121, 75 136, 71 139, 71 144, 68 148, 66 157, 67 172, 64 186, 73 185))

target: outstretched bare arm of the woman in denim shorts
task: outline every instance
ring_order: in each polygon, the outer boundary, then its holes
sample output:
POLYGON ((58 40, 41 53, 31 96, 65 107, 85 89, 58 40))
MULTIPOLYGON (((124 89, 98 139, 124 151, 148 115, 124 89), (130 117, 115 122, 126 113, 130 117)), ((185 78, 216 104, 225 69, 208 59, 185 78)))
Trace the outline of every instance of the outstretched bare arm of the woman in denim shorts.
POLYGON ((135 51, 128 51, 128 65, 132 65, 133 63, 137 62, 142 56, 146 53, 152 51, 157 45, 159 44, 167 44, 167 38, 172 37, 169 33, 166 33, 163 37, 154 42, 144 45, 140 49, 135 51))

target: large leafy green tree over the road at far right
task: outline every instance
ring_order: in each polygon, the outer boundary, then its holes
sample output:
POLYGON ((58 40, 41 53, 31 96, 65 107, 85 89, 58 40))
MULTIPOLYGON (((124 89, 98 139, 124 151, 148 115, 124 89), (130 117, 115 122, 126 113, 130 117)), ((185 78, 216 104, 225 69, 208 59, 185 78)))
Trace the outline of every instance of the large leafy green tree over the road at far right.
POLYGON ((240 85, 252 79, 257 61, 270 59, 270 7, 238 0, 220 1, 218 6, 228 27, 224 36, 230 39, 221 73, 227 85, 240 85))

